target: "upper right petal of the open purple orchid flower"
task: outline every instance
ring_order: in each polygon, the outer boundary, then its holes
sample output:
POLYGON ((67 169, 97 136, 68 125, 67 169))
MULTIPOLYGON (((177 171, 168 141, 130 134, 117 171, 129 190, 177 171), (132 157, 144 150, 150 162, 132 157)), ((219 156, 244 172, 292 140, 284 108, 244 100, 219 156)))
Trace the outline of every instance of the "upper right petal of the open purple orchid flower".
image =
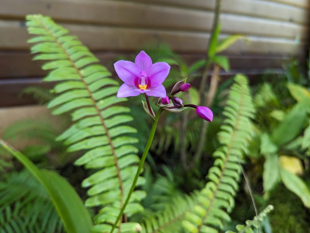
MULTIPOLYGON (((146 70, 148 77, 152 81, 152 87, 156 87, 165 81, 170 71, 170 66, 166 62, 154 63, 146 70)), ((164 97, 164 96, 163 96, 164 97)))

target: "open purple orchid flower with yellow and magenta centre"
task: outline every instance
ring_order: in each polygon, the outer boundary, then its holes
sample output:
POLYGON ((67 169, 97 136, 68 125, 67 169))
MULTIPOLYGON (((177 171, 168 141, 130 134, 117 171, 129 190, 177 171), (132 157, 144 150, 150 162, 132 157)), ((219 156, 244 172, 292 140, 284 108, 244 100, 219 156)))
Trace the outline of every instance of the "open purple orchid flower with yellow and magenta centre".
POLYGON ((137 96, 145 93, 148 96, 166 97, 166 89, 162 85, 169 74, 170 66, 166 62, 152 63, 152 59, 141 51, 131 61, 114 63, 118 77, 124 82, 118 89, 117 98, 137 96))

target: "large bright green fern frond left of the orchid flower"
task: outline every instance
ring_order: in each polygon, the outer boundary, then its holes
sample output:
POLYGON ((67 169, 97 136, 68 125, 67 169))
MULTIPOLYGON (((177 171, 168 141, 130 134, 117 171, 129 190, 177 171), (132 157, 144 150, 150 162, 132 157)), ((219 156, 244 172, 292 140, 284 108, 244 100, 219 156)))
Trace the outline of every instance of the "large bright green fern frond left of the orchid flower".
MULTIPOLYGON (((102 207, 94 219, 100 224, 94 231, 110 231, 137 171, 135 164, 139 162, 138 149, 132 145, 137 139, 126 136, 136 129, 123 125, 132 120, 127 114, 129 108, 115 106, 126 98, 116 97, 117 81, 109 78, 111 73, 76 36, 68 35, 67 29, 49 17, 29 15, 27 20, 29 33, 37 35, 29 40, 37 43, 31 48, 32 53, 39 53, 34 59, 48 60, 42 69, 52 70, 44 80, 59 81, 53 90, 57 97, 48 107, 54 108, 52 113, 56 115, 72 112, 75 121, 58 140, 64 141, 69 152, 88 150, 75 162, 95 170, 82 182, 84 188, 90 188, 86 205, 102 207)), ((142 183, 144 178, 140 177, 137 185, 142 183)), ((124 212, 126 216, 143 209, 139 201, 144 196, 143 191, 132 194, 124 212)), ((120 232, 139 228, 136 223, 120 226, 120 232)))

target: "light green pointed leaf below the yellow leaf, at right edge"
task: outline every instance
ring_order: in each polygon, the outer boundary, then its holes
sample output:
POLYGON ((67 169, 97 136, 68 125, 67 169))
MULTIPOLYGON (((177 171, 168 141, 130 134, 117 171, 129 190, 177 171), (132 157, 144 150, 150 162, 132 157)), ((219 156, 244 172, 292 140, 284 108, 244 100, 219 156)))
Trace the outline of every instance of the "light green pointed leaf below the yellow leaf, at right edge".
POLYGON ((307 185, 297 175, 285 170, 282 166, 279 167, 281 180, 285 187, 294 192, 303 204, 310 208, 310 190, 307 185))

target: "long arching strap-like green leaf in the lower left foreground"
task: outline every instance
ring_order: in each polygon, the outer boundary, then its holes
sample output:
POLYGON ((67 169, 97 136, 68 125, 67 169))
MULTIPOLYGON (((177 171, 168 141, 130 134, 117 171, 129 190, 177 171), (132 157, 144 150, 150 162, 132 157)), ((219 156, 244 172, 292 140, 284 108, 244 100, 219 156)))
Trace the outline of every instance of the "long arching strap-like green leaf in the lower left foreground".
POLYGON ((39 170, 25 155, 0 139, 2 147, 15 156, 46 188, 67 232, 91 231, 91 216, 68 181, 54 171, 39 170))

